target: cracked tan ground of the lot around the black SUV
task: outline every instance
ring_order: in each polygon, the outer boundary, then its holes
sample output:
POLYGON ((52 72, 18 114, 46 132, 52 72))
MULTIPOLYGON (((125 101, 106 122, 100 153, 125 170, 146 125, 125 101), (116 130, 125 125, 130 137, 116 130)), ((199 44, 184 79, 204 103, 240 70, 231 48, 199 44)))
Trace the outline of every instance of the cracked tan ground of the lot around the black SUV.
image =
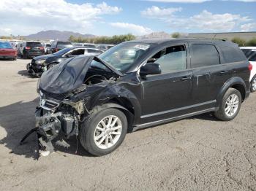
POLYGON ((70 149, 34 160, 37 79, 0 61, 0 190, 256 190, 256 93, 231 122, 210 114, 129 133, 116 152, 70 149))

